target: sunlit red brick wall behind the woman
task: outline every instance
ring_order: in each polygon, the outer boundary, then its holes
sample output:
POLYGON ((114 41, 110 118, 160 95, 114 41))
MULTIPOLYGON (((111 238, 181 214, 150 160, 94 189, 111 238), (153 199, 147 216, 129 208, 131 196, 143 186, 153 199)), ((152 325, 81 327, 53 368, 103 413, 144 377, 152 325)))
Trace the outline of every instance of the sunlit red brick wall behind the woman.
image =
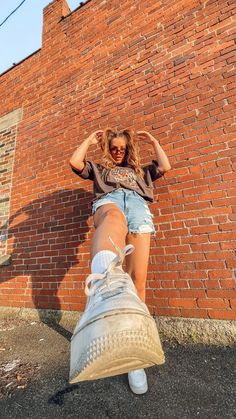
MULTIPOLYGON (((92 131, 133 127, 151 131, 172 165, 151 205, 150 310, 236 318, 234 8, 91 0, 70 14, 58 0, 45 9, 42 49, 0 77, 0 116, 24 110, 2 306, 84 308, 92 184, 69 159, 92 131)), ((143 163, 150 152, 142 147, 143 163)))

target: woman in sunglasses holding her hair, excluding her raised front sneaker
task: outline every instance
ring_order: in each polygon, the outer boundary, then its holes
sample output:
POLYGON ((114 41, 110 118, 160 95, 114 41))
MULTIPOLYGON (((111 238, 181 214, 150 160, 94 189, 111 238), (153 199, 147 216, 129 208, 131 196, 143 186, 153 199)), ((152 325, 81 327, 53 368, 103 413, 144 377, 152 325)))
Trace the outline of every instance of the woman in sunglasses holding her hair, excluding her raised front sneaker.
MULTIPOLYGON (((138 131, 137 139, 149 142, 156 159, 141 166, 139 147, 132 130, 107 128, 92 133, 70 159, 74 173, 94 182, 92 214, 95 233, 91 246, 91 271, 104 273, 116 257, 109 236, 119 248, 131 244, 135 250, 126 256, 126 271, 133 279, 140 299, 145 302, 151 234, 155 233, 148 202, 153 202, 153 181, 170 170, 169 160, 158 141, 147 131, 138 131), (86 161, 89 146, 100 144, 101 164, 86 161)), ((143 369, 128 373, 133 392, 147 391, 143 369)))

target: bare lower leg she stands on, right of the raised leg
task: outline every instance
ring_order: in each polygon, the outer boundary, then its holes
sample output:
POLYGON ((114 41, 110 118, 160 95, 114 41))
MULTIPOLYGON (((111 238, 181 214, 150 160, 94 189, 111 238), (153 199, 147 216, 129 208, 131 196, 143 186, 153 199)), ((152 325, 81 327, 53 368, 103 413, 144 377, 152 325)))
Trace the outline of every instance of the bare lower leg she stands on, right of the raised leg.
POLYGON ((138 295, 143 302, 145 302, 150 241, 150 233, 128 233, 126 238, 127 244, 133 244, 135 247, 133 253, 126 256, 126 270, 133 279, 138 295))

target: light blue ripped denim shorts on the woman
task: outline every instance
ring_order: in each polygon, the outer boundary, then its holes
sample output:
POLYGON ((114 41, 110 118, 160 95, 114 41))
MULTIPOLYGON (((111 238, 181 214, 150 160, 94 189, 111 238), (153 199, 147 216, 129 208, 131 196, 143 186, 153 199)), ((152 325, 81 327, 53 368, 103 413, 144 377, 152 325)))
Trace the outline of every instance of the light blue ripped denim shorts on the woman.
POLYGON ((93 203, 92 214, 105 204, 115 204, 121 209, 125 215, 129 233, 155 234, 153 215, 145 199, 137 192, 123 188, 115 189, 93 203))

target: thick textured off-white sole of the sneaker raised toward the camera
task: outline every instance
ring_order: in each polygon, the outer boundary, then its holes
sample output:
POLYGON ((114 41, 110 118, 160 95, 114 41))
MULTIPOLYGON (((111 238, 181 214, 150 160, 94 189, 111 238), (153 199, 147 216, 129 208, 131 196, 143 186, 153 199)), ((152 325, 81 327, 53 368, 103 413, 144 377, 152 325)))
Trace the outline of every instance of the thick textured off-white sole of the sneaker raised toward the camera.
POLYGON ((110 312, 72 336, 69 382, 111 377, 164 362, 156 323, 150 315, 110 312))

